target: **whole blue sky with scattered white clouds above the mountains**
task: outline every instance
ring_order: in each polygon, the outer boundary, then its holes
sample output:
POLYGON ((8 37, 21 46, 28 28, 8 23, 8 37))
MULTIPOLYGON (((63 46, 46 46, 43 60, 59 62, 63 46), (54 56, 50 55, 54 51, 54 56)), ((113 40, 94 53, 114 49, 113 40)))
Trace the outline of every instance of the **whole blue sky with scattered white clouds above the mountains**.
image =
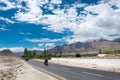
POLYGON ((120 37, 120 0, 0 0, 0 50, 120 37))

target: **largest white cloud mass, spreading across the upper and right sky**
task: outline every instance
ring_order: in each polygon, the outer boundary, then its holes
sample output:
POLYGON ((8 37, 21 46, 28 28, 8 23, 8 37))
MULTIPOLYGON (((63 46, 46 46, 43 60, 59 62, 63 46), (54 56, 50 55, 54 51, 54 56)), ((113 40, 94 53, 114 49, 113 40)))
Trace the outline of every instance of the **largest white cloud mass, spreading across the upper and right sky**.
MULTIPOLYGON (((20 0, 26 3, 23 8, 15 14, 14 18, 18 21, 47 25, 43 29, 57 33, 69 30, 73 32, 70 37, 64 37, 66 42, 85 41, 88 39, 98 39, 101 37, 111 39, 109 34, 120 34, 120 1, 102 0, 98 4, 87 5, 75 3, 72 6, 60 8, 62 0, 20 0), (57 8, 54 7, 57 5, 57 8), (46 6, 44 6, 46 5, 46 6), (115 8, 113 8, 113 6, 115 8), (54 14, 44 14, 41 7, 51 10, 54 14), (83 8, 82 11, 77 8, 83 8), (79 12, 79 14, 78 14, 79 12)), ((14 3, 9 8, 14 8, 14 3)), ((10 21, 8 21, 10 22, 10 21)), ((45 39, 26 39, 30 42, 54 42, 45 39)))

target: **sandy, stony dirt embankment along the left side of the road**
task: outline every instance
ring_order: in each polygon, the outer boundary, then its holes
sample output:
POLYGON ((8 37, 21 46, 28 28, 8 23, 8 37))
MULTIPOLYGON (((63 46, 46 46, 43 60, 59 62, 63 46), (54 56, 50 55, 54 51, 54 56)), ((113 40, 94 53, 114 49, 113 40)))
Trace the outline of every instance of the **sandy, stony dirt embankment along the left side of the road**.
POLYGON ((0 80, 57 80, 20 58, 0 57, 0 80))

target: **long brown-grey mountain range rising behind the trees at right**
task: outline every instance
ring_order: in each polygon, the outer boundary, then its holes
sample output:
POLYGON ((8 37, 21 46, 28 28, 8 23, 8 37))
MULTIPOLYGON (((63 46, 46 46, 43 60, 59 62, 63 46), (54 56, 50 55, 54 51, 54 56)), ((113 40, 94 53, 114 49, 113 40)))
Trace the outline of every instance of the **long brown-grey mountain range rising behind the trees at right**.
POLYGON ((83 54, 92 54, 98 53, 99 49, 101 50, 114 50, 120 48, 120 42, 109 41, 106 39, 93 40, 88 42, 76 42, 69 45, 55 46, 52 49, 49 49, 49 53, 76 53, 81 52, 83 54))

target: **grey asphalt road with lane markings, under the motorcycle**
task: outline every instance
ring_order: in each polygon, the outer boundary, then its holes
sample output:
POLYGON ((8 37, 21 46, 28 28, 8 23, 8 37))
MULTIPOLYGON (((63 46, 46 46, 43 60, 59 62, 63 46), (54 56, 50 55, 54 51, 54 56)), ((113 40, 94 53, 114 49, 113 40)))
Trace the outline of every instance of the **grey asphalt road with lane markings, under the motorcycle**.
POLYGON ((120 80, 120 73, 116 72, 69 67, 51 63, 49 63, 49 66, 45 66, 43 62, 35 60, 29 60, 28 63, 37 67, 38 70, 42 69, 49 71, 50 73, 65 78, 66 80, 120 80))

